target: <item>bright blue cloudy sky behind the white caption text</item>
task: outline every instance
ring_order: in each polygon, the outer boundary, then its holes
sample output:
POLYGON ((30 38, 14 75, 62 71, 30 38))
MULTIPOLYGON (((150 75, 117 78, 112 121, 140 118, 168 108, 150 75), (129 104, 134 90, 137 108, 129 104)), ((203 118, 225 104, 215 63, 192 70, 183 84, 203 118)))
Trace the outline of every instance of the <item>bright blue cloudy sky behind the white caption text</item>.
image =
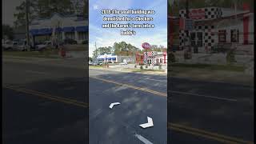
MULTIPOLYGON (((95 50, 95 42, 97 47, 102 46, 113 46, 114 42, 126 42, 133 46, 142 49, 142 42, 149 42, 150 45, 162 45, 167 46, 167 2, 166 0, 90 0, 89 1, 89 56, 91 57, 95 50), (146 16, 153 17, 154 29, 134 29, 136 35, 120 35, 120 30, 126 29, 104 29, 102 28, 103 16, 113 15, 102 15, 102 9, 142 9, 142 10, 155 10, 155 14, 148 14, 146 16)), ((124 16, 124 15, 118 15, 124 16)), ((128 16, 128 15, 126 15, 128 16)), ((130 16, 144 16, 130 15, 130 16)), ((110 22, 110 23, 131 23, 131 22, 110 22)), ((141 23, 141 22, 133 22, 141 23)), ((143 23, 143 22, 142 22, 143 23)), ((132 30, 132 29, 129 29, 132 30)))

